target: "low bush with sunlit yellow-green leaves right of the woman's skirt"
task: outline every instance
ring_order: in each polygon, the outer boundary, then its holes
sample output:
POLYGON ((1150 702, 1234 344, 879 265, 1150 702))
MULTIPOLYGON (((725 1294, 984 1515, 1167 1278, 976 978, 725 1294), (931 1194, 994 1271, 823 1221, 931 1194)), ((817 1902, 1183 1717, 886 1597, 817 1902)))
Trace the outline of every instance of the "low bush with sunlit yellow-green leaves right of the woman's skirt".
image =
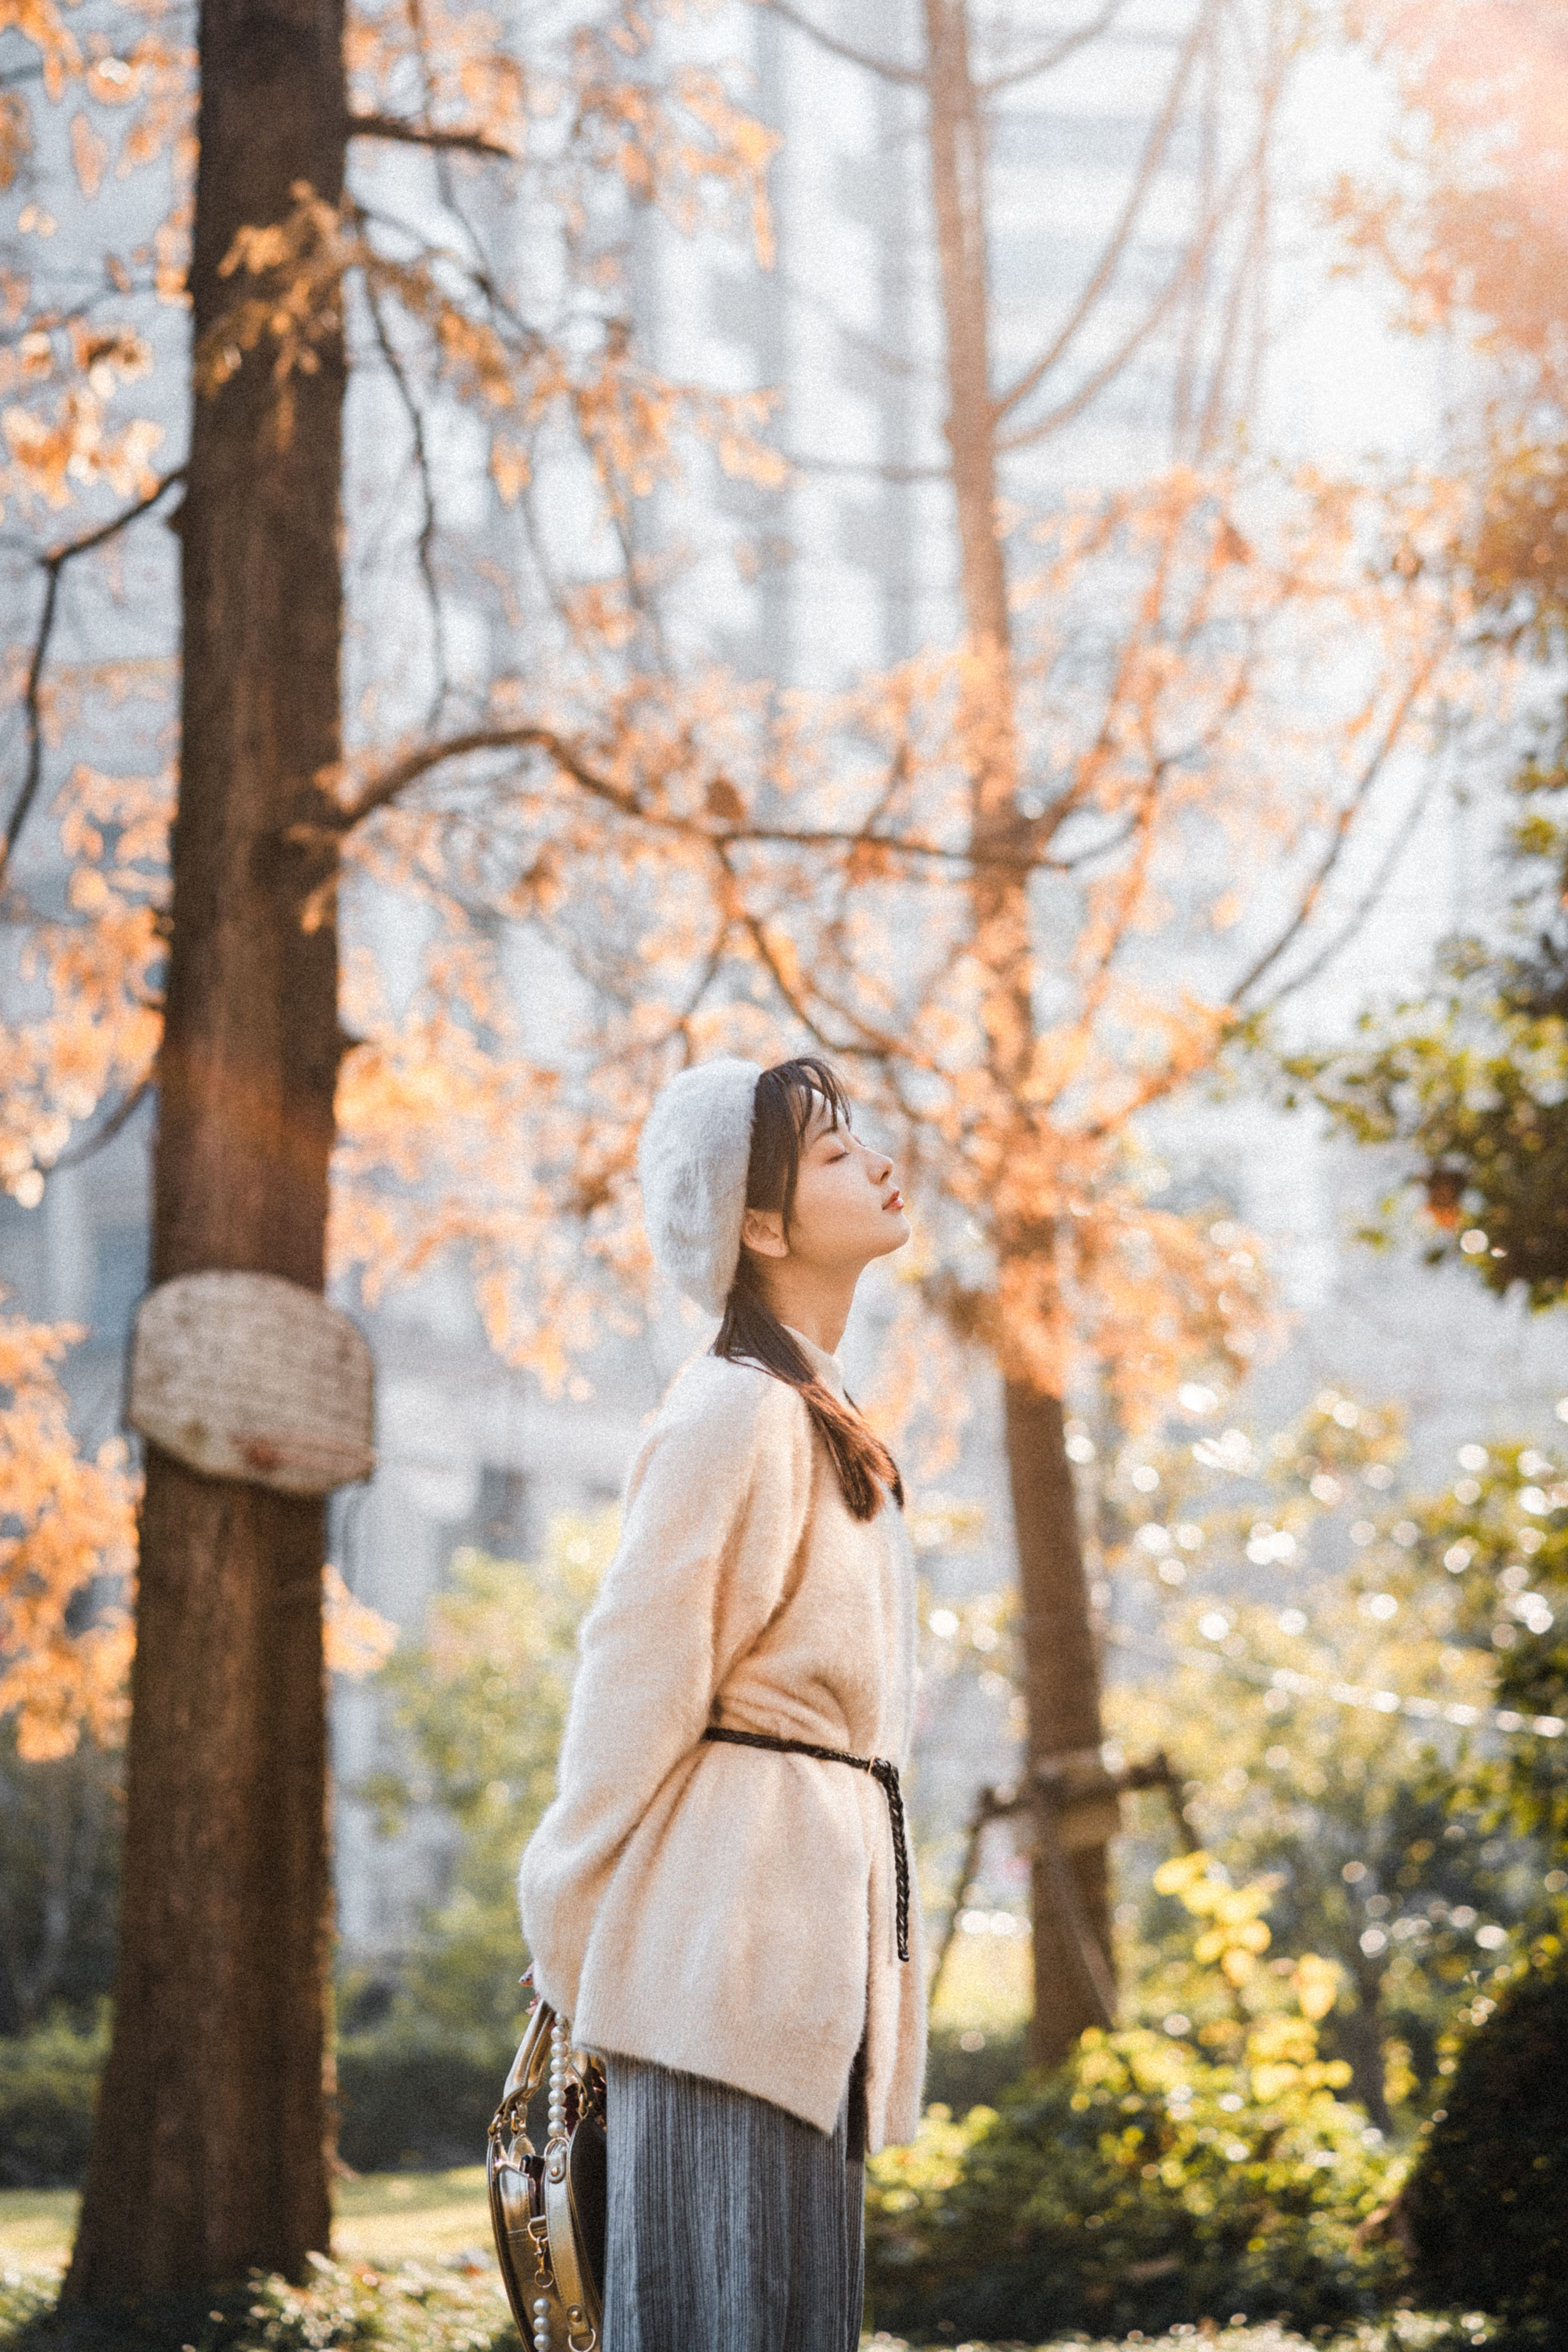
POLYGON ((966 2122, 870 2166, 867 2286, 879 2328, 919 2343, 1065 2328, 1124 2333, 1371 2312, 1396 2256, 1356 2230, 1389 2161, 1333 2093, 1312 2025, 1253 2025, 1234 2063, 1133 2030, 1086 2034, 966 2122))

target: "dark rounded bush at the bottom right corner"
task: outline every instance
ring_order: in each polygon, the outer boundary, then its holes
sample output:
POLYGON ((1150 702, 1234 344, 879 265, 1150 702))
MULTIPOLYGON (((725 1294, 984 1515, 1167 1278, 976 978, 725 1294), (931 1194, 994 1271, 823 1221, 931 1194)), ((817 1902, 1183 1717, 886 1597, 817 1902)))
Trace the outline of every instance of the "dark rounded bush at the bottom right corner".
POLYGON ((1556 1938, 1474 2023, 1439 2112, 1401 2199, 1422 2291, 1566 2343, 1568 1957, 1556 1938))

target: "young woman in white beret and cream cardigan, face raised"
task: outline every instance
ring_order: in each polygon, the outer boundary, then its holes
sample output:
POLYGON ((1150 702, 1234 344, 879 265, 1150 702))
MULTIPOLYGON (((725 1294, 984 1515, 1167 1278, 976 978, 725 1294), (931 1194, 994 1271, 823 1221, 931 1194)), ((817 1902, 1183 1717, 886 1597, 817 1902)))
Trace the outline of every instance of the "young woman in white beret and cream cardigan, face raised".
POLYGON ((853 2352, 863 2159, 914 2133, 926 2009, 903 1486, 835 1348, 910 1223, 820 1061, 686 1070, 639 1171, 722 1324, 632 1465, 522 1924, 607 2063, 607 2352, 853 2352))

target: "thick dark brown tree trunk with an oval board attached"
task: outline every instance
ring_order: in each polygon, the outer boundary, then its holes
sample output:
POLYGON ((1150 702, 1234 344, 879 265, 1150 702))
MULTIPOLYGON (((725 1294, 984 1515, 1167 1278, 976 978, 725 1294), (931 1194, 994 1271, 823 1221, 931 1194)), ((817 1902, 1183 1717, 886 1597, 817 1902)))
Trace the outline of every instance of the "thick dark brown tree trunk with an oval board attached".
MULTIPOLYGON (((244 223, 343 188, 341 0, 202 0, 197 339, 244 223)), ((193 414, 153 1279, 324 1279, 339 1063, 343 346, 277 433, 266 343, 193 414), (315 894, 315 896, 313 896, 315 894), (310 901, 310 915, 308 915, 310 901), (324 920, 317 920, 324 913, 324 920)), ((322 1505, 148 1449, 115 2032, 66 2296, 299 2274, 329 2239, 322 1505)))

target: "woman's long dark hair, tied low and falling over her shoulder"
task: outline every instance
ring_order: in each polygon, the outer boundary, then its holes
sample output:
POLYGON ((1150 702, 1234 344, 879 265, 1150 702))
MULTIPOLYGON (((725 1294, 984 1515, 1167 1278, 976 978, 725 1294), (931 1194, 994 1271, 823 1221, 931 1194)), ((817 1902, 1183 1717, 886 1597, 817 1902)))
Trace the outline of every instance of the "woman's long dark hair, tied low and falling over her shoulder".
MULTIPOLYGON (((752 1157, 745 1169, 745 1207, 776 1209, 783 1216, 785 1235, 799 1183, 799 1148, 818 1098, 827 1103, 835 1127, 849 1127, 844 1087, 827 1063, 813 1054, 806 1054, 802 1061, 780 1061, 757 1080, 752 1157)), ((759 1371, 769 1371, 776 1381, 788 1381, 790 1388, 799 1390, 802 1404, 823 1432, 832 1468, 839 1472, 844 1501, 856 1519, 877 1517, 884 1489, 903 1510, 898 1463, 856 1406, 842 1404, 811 1371, 811 1364, 766 1303, 759 1261, 745 1244, 741 1244, 741 1263, 724 1301, 724 1322, 719 1324, 712 1352, 729 1357, 731 1364, 755 1364, 759 1371)))

